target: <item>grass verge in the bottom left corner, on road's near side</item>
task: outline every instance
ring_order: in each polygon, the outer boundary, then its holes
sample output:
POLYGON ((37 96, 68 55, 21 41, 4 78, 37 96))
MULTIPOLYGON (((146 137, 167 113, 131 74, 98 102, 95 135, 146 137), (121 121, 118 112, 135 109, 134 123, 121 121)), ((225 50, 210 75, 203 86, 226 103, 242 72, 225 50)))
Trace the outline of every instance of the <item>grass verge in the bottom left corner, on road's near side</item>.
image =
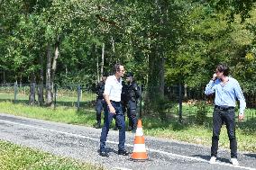
POLYGON ((103 170, 103 167, 80 163, 74 159, 56 157, 32 148, 24 148, 0 140, 1 170, 10 169, 60 169, 60 170, 103 170))

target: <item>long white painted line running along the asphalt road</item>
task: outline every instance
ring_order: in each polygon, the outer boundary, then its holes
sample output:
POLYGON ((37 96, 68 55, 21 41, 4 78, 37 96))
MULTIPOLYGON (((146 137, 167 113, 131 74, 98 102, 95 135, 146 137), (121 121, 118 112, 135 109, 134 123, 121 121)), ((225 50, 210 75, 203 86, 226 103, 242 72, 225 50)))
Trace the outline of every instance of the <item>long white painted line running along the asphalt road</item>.
MULTIPOLYGON (((20 126, 26 126, 26 127, 30 127, 30 128, 38 129, 38 130, 48 130, 48 131, 52 131, 52 132, 56 132, 56 133, 62 133, 62 134, 68 135, 68 136, 78 137, 78 138, 81 138, 81 139, 90 139, 90 140, 94 140, 94 141, 99 142, 99 139, 94 139, 94 138, 86 137, 86 136, 83 136, 83 135, 78 135, 78 134, 75 134, 75 133, 59 131, 59 130, 50 130, 50 129, 41 128, 41 127, 32 126, 32 125, 27 125, 27 124, 23 124, 23 123, 14 122, 14 121, 4 121, 4 120, 0 120, 0 121, 15 124, 15 125, 20 125, 20 126)), ((107 140, 106 142, 111 143, 111 144, 118 144, 118 142, 110 141, 110 140, 107 140)), ((133 147, 133 145, 130 145, 130 144, 125 144, 125 146, 133 147)), ((147 150, 151 151, 151 152, 157 152, 159 154, 163 154, 163 155, 167 155, 167 156, 172 156, 172 157, 181 157, 183 159, 196 160, 196 161, 199 161, 199 162, 206 162, 206 163, 208 162, 206 159, 199 158, 199 157, 182 156, 182 155, 173 154, 173 153, 170 153, 170 152, 165 152, 165 151, 161 151, 161 150, 157 150, 157 149, 153 149, 153 148, 147 148, 147 150)), ((241 169, 256 170, 255 168, 252 168, 252 167, 233 166, 232 164, 221 163, 221 162, 216 162, 215 164, 216 165, 221 165, 221 166, 232 166, 232 167, 237 167, 237 168, 241 168, 241 169)))

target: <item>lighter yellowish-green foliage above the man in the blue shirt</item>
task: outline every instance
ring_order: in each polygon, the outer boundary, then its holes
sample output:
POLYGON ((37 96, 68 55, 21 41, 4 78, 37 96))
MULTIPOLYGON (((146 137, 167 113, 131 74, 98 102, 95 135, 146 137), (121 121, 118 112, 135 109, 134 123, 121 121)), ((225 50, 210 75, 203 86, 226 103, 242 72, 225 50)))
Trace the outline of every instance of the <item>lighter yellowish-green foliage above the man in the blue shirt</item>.
MULTIPOLYGON (((187 40, 178 47, 178 51, 171 51, 169 54, 167 83, 177 84, 181 81, 190 87, 206 85, 215 66, 221 62, 232 67, 235 78, 246 82, 245 84, 249 83, 248 78, 242 78, 243 74, 248 74, 248 71, 244 72, 248 70, 244 69, 248 66, 244 58, 248 51, 246 47, 253 39, 251 32, 246 30, 247 22, 241 24, 236 17, 233 24, 230 24, 224 19, 224 14, 215 13, 203 4, 194 4, 187 16, 187 40), (237 72, 240 70, 237 69, 239 65, 243 66, 243 72, 237 72)), ((251 21, 255 19, 251 18, 251 21)), ((250 68, 255 70, 254 67, 250 68)), ((253 89, 252 86, 250 89, 253 89)))

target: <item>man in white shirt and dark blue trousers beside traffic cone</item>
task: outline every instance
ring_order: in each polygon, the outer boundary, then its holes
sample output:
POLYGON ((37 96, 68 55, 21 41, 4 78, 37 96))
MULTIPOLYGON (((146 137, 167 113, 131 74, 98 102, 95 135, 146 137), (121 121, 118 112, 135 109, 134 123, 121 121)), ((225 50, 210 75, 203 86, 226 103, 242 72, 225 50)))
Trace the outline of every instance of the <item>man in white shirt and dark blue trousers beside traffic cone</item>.
POLYGON ((119 129, 118 155, 128 156, 129 153, 124 149, 125 142, 125 121, 121 105, 122 93, 122 76, 124 75, 124 67, 121 64, 114 65, 114 75, 108 76, 105 81, 105 123, 101 131, 100 152, 102 157, 109 157, 105 150, 105 141, 109 131, 109 126, 113 120, 116 120, 119 129))

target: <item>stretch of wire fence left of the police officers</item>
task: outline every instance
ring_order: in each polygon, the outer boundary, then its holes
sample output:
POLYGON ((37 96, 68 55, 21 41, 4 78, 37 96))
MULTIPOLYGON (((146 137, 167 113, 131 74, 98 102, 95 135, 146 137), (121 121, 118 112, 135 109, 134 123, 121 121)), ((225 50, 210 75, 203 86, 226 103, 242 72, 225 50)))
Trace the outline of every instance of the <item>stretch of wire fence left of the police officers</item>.
MULTIPOLYGON (((13 103, 32 103, 34 105, 45 105, 47 88, 46 85, 35 84, 7 84, 0 85, 0 101, 11 101, 13 103), (42 103, 40 100, 40 90, 42 91, 42 103), (32 94, 32 92, 34 92, 32 94), (30 95, 33 95, 30 99, 30 95)), ((80 85, 54 86, 51 89, 51 105, 54 107, 77 107, 92 108, 95 103, 96 94, 80 85)))

